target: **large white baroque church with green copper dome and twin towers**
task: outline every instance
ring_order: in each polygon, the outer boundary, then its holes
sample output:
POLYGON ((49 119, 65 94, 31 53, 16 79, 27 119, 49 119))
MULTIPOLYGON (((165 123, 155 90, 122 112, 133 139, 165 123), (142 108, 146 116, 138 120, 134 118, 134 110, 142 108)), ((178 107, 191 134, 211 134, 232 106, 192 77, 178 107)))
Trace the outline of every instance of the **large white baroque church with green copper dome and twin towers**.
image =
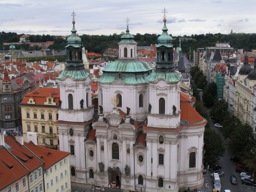
POLYGON ((137 43, 122 35, 119 58, 98 79, 93 118, 92 76, 84 68, 73 19, 67 63, 59 75, 59 146, 70 152, 72 187, 122 191, 183 191, 203 185, 206 120, 180 91, 172 38, 164 18, 156 69, 137 59, 137 43), (95 188, 94 188, 95 187, 95 188))

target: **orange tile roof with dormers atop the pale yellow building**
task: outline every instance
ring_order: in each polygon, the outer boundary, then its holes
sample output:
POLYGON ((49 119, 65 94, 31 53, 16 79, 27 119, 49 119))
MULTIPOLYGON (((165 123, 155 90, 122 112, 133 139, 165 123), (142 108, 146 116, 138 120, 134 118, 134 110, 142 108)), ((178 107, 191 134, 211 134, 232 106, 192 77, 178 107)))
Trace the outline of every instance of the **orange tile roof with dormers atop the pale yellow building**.
POLYGON ((23 101, 21 104, 27 104, 30 97, 34 98, 36 105, 44 105, 44 102, 46 102, 46 97, 51 96, 53 98, 53 101, 57 104, 56 106, 59 106, 59 99, 60 99, 60 90, 59 88, 46 88, 46 87, 40 87, 35 90, 33 90, 31 93, 28 93, 25 95, 23 101))

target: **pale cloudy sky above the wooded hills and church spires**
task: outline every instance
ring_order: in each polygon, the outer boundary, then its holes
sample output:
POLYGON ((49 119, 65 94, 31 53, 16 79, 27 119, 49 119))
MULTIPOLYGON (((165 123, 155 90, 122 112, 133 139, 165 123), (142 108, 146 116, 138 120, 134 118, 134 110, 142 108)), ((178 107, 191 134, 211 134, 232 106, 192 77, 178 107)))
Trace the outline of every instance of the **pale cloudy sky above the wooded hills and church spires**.
POLYGON ((71 12, 78 35, 161 34, 167 9, 169 34, 256 32, 255 0, 1 0, 0 31, 70 35, 71 12))

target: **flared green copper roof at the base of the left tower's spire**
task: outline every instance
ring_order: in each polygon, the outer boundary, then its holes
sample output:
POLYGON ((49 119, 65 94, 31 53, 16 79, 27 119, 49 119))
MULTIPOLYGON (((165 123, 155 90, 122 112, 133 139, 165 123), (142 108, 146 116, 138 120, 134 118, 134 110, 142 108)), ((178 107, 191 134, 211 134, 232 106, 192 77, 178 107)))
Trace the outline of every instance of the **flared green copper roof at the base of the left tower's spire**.
POLYGON ((90 73, 85 69, 80 70, 67 70, 65 69, 60 73, 57 79, 64 79, 66 76, 70 76, 72 79, 86 79, 90 73))

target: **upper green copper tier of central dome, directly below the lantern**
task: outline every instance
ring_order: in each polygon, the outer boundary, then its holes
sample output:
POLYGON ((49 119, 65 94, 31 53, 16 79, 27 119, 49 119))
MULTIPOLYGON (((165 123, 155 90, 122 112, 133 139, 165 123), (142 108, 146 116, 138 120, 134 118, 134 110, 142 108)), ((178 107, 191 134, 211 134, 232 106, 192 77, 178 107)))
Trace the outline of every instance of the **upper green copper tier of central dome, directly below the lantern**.
POLYGON ((152 68, 145 61, 137 58, 118 59, 107 65, 104 72, 146 72, 152 68))

